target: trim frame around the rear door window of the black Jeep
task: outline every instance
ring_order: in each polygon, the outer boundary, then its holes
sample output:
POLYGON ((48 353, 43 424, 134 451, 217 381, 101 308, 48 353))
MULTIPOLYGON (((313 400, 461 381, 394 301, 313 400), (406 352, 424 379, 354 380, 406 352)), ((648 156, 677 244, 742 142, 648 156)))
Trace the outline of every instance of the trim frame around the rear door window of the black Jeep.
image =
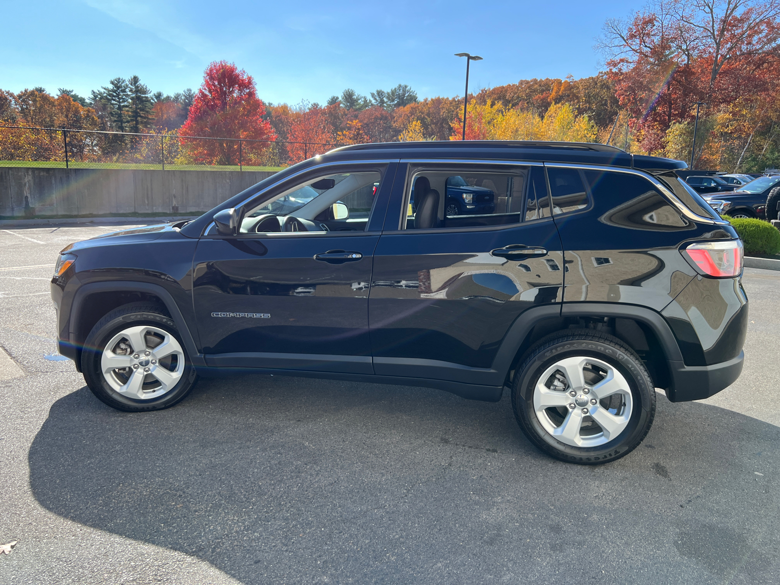
MULTIPOLYGON (((412 169, 415 168, 417 165, 438 165, 441 167, 447 167, 447 166, 453 166, 453 165, 489 165, 491 167, 509 167, 509 168, 516 168, 516 167, 542 167, 544 168, 544 162, 541 161, 495 161, 495 160, 484 160, 484 159, 460 159, 460 158, 402 158, 400 159, 401 163, 406 163, 406 177, 403 181, 403 188, 401 191, 401 209, 399 214, 399 220, 398 220, 398 228, 397 229, 385 229, 382 233, 386 234, 399 234, 399 233, 415 233, 415 234, 427 234, 427 233, 460 233, 460 232, 494 232, 502 229, 516 229, 520 225, 526 225, 526 224, 532 224, 537 222, 547 222, 552 219, 552 209, 550 209, 550 216, 547 218, 539 218, 539 219, 532 219, 530 221, 521 221, 511 224, 502 224, 502 225, 475 225, 475 226, 466 226, 463 228, 431 228, 431 229, 404 229, 404 221, 408 216, 406 215, 406 211, 408 208, 403 204, 404 201, 406 201, 406 193, 407 190, 409 190, 409 193, 411 193, 411 177, 414 175, 414 172, 412 172, 412 169)), ((417 172, 417 171, 415 171, 417 172)), ((511 172, 507 173, 511 174, 511 172)), ((548 201, 550 201, 550 183, 547 178, 547 173, 544 173, 544 181, 547 184, 547 197, 548 201)), ((529 182, 530 183, 530 182, 529 182)), ((528 186, 526 186, 526 189, 528 186)), ((445 199, 446 199, 446 193, 445 193, 445 199)), ((519 216, 521 218, 525 217, 525 206, 526 206, 526 200, 527 200, 527 194, 523 194, 523 211, 519 212, 519 216)), ((492 215, 492 214, 491 214, 492 215)))

